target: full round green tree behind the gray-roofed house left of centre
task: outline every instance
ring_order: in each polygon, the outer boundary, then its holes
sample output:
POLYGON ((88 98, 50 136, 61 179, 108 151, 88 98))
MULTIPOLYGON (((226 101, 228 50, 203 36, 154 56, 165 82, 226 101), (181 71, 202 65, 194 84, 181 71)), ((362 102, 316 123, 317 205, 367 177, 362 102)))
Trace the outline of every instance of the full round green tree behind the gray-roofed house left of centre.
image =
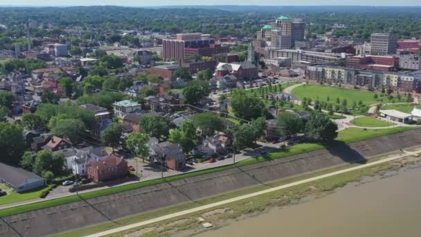
POLYGON ((168 137, 170 121, 161 115, 145 116, 139 123, 139 129, 150 137, 161 141, 168 137))

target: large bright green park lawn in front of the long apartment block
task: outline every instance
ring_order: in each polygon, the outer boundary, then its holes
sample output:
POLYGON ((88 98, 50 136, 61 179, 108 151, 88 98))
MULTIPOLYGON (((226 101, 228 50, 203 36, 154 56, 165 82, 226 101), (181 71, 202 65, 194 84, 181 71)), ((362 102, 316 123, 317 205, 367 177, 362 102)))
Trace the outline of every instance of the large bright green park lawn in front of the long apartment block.
POLYGON ((374 93, 370 91, 359 91, 356 89, 345 89, 322 85, 307 84, 301 87, 296 87, 292 90, 292 94, 297 96, 300 100, 303 100, 303 98, 306 97, 311 98, 313 101, 320 100, 328 102, 329 96, 330 103, 336 103, 337 98, 341 101, 346 99, 348 101, 348 105, 351 105, 352 101, 358 102, 359 100, 361 100, 364 105, 377 103, 377 100, 374 98, 374 93))

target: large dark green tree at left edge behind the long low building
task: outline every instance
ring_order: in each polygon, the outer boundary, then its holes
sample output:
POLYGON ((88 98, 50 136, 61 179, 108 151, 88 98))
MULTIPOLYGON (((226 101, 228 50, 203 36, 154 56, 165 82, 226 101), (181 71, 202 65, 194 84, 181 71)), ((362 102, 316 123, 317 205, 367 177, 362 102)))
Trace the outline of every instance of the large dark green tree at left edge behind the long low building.
POLYGON ((19 164, 24 146, 21 127, 0 122, 0 162, 19 164))

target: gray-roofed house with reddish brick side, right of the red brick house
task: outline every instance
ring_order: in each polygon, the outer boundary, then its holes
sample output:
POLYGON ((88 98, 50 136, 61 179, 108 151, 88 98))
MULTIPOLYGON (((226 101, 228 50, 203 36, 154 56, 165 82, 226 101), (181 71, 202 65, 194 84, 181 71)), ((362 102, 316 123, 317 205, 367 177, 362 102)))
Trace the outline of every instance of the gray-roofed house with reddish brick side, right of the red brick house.
POLYGON ((155 161, 164 161, 164 166, 172 170, 182 170, 186 166, 186 156, 177 144, 165 141, 153 148, 155 161))

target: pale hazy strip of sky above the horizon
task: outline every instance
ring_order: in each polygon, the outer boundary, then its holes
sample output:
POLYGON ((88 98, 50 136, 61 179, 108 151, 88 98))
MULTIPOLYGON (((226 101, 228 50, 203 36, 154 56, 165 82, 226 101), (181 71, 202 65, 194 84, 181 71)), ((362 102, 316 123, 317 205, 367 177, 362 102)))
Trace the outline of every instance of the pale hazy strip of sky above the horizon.
POLYGON ((170 5, 266 5, 266 6, 311 6, 311 5, 359 5, 359 6, 421 6, 421 0, 0 0, 0 6, 170 6, 170 5), (210 4, 210 3, 211 4, 210 4))

